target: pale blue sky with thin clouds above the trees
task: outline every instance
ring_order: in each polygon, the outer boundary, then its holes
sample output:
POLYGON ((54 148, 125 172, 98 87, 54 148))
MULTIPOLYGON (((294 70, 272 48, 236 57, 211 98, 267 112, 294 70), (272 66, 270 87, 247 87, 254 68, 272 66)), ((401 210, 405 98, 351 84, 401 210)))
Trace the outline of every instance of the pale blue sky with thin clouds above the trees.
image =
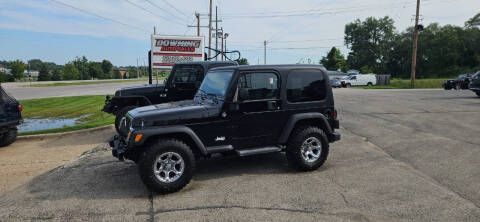
MULTIPOLYGON (((332 46, 342 52, 345 24, 390 16, 397 31, 413 24, 416 0, 214 0, 219 26, 250 64, 318 63, 332 46)), ((159 34, 196 35, 195 12, 208 25, 208 0, 0 0, 0 60, 39 58, 64 64, 75 56, 114 65, 143 64, 153 26, 159 34)), ((480 0, 422 0, 422 23, 463 26, 480 0)), ((208 36, 202 28, 201 35, 208 36)), ((479 40, 480 41, 480 40, 479 40)), ((208 40, 206 41, 208 43, 208 40)), ((214 42, 214 41, 213 41, 214 42)), ((421 44, 421 43, 420 43, 421 44)), ((212 45, 215 46, 214 44, 212 45)))

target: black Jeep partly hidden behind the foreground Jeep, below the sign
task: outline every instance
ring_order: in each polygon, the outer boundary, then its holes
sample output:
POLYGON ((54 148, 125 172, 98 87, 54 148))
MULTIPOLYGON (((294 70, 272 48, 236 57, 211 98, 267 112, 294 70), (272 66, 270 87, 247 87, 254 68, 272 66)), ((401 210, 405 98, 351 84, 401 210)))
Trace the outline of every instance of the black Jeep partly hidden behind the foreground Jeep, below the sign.
POLYGON ((102 111, 114 114, 115 128, 125 114, 136 107, 193 99, 205 73, 211 68, 238 66, 235 61, 202 61, 175 63, 164 84, 122 88, 115 96, 105 98, 102 111))

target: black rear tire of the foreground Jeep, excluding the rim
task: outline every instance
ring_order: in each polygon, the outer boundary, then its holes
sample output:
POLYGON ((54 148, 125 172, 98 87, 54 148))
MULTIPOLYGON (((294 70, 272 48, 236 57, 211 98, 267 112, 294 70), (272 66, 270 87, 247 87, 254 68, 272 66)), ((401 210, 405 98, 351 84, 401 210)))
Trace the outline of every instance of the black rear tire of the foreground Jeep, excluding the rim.
POLYGON ((288 141, 286 157, 288 163, 300 171, 312 171, 325 163, 328 156, 328 139, 325 132, 315 126, 302 126, 295 129, 288 141), (305 161, 301 154, 302 144, 311 137, 317 138, 322 145, 320 157, 311 163, 305 161))

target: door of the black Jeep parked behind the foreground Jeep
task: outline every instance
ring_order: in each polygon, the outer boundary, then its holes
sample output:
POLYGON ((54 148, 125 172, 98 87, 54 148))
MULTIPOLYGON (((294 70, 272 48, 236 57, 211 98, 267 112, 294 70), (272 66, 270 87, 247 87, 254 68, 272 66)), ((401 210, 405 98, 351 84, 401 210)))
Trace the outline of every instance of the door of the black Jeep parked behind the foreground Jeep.
POLYGON ((198 90, 204 77, 201 65, 178 65, 172 72, 168 83, 168 98, 171 101, 189 100, 198 90))

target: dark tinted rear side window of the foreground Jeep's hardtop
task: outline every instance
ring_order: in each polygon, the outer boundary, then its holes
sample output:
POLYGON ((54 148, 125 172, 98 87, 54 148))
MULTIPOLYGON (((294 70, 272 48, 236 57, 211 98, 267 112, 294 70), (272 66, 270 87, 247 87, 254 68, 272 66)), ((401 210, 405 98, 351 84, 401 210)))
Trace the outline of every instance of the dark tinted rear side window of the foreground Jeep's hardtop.
POLYGON ((327 96, 323 74, 316 69, 293 70, 287 79, 287 100, 292 103, 320 101, 327 96))

